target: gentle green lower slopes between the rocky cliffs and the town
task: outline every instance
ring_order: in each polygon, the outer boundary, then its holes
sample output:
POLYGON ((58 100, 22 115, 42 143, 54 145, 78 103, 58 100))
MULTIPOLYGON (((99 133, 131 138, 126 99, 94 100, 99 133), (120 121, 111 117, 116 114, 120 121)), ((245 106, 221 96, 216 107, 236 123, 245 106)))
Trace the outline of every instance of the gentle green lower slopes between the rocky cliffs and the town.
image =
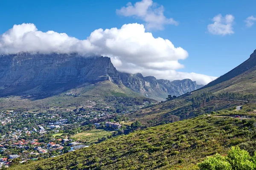
MULTIPOLYGON (((123 85, 118 86, 113 82, 104 81, 84 84, 79 88, 44 99, 35 99, 34 96, 3 97, 0 98, 0 106, 5 109, 25 109, 28 111, 72 111, 78 107, 93 107, 96 104, 113 106, 109 104, 111 97, 146 99, 123 85)), ((154 101, 153 99, 148 100, 154 101)))

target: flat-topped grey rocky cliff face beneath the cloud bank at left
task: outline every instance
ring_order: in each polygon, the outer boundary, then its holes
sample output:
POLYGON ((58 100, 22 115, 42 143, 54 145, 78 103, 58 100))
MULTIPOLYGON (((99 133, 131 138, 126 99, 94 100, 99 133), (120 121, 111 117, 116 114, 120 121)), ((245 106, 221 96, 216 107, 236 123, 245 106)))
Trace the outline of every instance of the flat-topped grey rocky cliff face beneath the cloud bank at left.
POLYGON ((0 56, 1 96, 58 93, 104 80, 121 83, 108 57, 26 53, 0 56))

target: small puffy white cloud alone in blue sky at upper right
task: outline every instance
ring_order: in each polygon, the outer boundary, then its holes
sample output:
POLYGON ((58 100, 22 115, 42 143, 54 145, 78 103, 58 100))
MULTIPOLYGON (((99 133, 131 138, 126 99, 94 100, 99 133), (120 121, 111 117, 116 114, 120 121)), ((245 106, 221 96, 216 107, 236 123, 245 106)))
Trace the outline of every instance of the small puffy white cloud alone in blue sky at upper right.
POLYGON ((225 17, 222 17, 221 14, 213 17, 212 21, 214 23, 207 26, 209 33, 215 35, 227 35, 234 34, 233 31, 233 22, 235 17, 231 14, 227 14, 225 17))

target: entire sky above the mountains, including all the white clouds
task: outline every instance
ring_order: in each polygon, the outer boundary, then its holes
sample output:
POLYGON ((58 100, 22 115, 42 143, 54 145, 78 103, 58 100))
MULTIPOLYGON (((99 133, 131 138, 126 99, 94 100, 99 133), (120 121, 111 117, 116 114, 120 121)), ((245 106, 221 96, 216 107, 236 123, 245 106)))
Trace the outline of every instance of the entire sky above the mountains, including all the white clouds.
POLYGON ((1 0, 0 53, 92 54, 207 84, 256 49, 254 0, 1 0))

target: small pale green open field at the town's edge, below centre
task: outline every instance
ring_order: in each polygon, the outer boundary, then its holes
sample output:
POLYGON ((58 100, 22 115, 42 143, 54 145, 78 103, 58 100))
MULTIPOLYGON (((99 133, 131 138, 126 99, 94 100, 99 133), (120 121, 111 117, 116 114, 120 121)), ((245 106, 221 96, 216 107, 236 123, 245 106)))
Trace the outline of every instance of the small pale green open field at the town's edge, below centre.
POLYGON ((94 143, 98 142, 98 139, 102 137, 107 137, 112 135, 113 131, 103 130, 103 129, 93 129, 87 130, 82 133, 77 133, 76 135, 72 136, 72 138, 76 139, 82 143, 94 143))

